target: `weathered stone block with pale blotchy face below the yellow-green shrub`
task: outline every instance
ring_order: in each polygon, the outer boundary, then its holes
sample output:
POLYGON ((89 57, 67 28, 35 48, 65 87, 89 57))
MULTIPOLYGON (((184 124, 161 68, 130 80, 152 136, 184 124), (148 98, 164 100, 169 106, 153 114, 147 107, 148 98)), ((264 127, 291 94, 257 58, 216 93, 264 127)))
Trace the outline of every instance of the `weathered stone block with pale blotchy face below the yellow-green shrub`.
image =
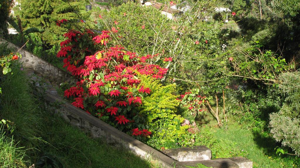
POLYGON ((183 147, 177 149, 167 149, 164 154, 179 162, 184 161, 204 161, 211 159, 211 150, 206 146, 183 147))

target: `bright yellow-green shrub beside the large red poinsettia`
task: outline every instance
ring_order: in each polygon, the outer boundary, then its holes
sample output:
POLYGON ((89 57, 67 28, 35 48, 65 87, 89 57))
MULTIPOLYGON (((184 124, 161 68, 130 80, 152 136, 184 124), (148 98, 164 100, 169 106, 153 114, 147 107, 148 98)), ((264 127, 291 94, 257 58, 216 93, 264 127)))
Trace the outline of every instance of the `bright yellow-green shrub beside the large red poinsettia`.
POLYGON ((140 76, 140 86, 150 88, 151 95, 142 99, 143 105, 140 113, 147 116, 146 122, 152 132, 152 138, 147 141, 151 146, 158 149, 161 147, 176 148, 182 136, 187 135, 188 125, 181 126, 184 118, 176 114, 179 100, 176 92, 176 85, 163 86, 151 77, 140 76))

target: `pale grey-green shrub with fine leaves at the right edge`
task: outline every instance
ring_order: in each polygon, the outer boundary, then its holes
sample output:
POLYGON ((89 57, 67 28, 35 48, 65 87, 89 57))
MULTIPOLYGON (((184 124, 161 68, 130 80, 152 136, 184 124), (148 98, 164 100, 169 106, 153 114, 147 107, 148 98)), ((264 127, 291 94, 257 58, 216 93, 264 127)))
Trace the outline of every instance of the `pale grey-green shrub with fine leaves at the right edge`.
POLYGON ((279 79, 279 91, 286 95, 286 102, 278 113, 270 114, 271 133, 300 155, 300 71, 283 73, 279 79))

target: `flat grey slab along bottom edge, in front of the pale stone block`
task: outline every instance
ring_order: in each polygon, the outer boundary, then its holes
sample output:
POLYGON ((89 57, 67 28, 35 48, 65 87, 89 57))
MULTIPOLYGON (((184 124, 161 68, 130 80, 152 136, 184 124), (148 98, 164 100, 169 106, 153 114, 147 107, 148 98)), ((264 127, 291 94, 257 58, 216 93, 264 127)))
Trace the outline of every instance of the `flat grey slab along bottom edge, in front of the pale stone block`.
POLYGON ((213 168, 239 168, 237 164, 235 164, 230 159, 215 159, 215 160, 206 160, 206 161, 186 161, 186 162, 177 162, 179 166, 197 166, 197 164, 203 164, 206 167, 213 168))

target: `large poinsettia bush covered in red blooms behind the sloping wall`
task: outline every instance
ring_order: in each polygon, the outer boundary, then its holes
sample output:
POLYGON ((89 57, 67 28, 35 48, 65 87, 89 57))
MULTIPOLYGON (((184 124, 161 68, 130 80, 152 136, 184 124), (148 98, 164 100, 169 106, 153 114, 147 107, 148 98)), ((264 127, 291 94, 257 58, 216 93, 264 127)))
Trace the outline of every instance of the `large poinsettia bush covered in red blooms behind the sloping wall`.
MULTIPOLYGON (((58 21, 58 26, 65 22, 58 21)), ((57 57, 65 57, 63 67, 79 79, 64 96, 73 100, 73 106, 138 139, 149 137, 145 116, 135 107, 143 104, 142 98, 151 90, 139 85, 138 75, 161 79, 168 69, 147 63, 158 54, 137 56, 122 46, 109 47, 110 35, 116 32, 84 29, 64 34, 57 57)))

